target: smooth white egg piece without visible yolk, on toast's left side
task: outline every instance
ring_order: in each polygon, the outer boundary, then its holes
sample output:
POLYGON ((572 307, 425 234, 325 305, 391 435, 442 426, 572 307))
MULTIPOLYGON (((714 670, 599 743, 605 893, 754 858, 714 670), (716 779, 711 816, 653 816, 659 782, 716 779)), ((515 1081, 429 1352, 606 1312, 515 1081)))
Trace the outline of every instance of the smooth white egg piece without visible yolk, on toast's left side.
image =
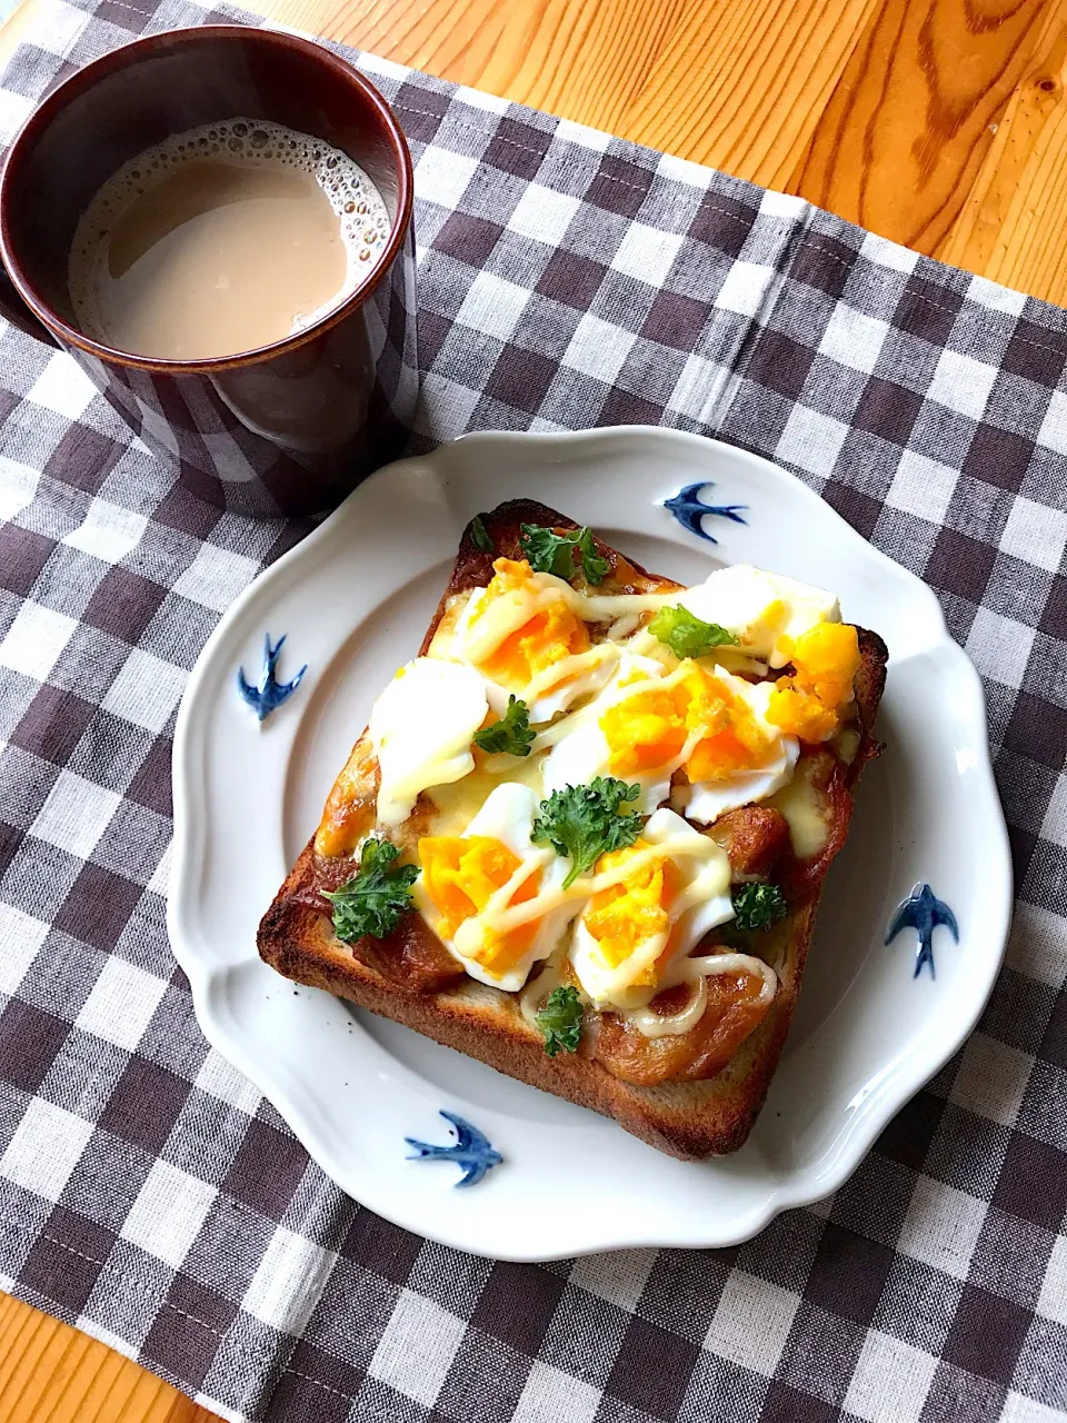
POLYGON ((421 791, 474 770, 471 739, 487 710, 482 679, 460 662, 415 657, 397 672, 368 724, 381 773, 380 825, 400 825, 421 791))

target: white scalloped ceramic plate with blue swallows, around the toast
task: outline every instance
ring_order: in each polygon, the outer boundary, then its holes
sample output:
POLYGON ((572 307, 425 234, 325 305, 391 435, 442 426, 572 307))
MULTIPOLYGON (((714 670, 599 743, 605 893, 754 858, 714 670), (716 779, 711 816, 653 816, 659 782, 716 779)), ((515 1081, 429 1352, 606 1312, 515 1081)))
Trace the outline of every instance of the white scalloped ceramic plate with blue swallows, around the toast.
POLYGON ((1007 935, 1010 861, 982 687, 935 596, 792 475, 676 431, 477 434, 380 470, 219 623, 181 707, 174 783, 169 931, 205 1035, 356 1200, 479 1255, 730 1245, 827 1195, 972 1030, 1007 935), (691 532, 666 507, 686 485, 704 485, 704 502, 744 505, 744 522, 703 517, 716 544, 691 532), (767 1106, 726 1160, 674 1161, 404 1027, 294 993, 256 956, 256 924, 377 692, 418 647, 460 532, 519 495, 679 581, 753 562, 832 588, 845 618, 889 645, 888 750, 864 776, 829 874, 767 1106), (260 724, 235 677, 243 665, 256 679, 266 633, 289 639, 282 679, 309 670, 260 724), (959 943, 935 931, 936 979, 913 978, 911 929, 885 942, 916 882, 959 921, 959 943), (474 1188, 454 1188, 452 1163, 408 1160, 405 1136, 448 1143, 441 1109, 505 1158, 474 1188))

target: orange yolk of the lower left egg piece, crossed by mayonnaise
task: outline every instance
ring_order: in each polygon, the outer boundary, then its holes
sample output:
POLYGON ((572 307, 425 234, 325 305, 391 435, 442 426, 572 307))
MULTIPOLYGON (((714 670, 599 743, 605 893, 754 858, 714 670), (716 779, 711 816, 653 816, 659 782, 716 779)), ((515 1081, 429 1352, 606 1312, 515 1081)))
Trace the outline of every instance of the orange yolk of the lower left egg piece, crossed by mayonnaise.
MULTIPOLYGON (((425 835, 418 842, 418 858, 425 892, 441 911, 437 932, 445 941, 455 936, 465 919, 481 914, 522 864, 504 841, 489 835, 425 835)), ((539 887, 541 871, 535 871, 524 879, 508 905, 532 899, 539 887)), ((502 976, 529 952, 536 932, 536 921, 505 933, 487 929, 471 956, 489 973, 502 976)))

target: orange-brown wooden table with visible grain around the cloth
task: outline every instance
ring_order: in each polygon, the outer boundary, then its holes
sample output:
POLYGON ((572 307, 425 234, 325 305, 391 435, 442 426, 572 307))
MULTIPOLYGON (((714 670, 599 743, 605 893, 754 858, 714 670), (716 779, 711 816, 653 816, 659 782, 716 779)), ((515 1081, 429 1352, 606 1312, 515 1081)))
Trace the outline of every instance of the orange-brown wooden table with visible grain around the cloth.
MULTIPOLYGON (((1067 305, 1067 0, 245 0, 1067 305)), ((33 23, 0 31, 4 61, 33 23)), ((0 1295, 0 1423, 209 1423, 0 1295)))

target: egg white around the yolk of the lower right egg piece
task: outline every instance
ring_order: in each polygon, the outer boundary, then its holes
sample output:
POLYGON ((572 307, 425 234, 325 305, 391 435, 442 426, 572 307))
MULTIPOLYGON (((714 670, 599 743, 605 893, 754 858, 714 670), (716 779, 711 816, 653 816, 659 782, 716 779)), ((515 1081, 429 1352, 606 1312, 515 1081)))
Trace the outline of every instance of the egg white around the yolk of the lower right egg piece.
POLYGON ((714 841, 693 830, 673 810, 666 808, 657 810, 647 820, 642 837, 649 844, 670 845, 677 851, 670 858, 681 875, 684 888, 666 906, 670 916, 669 931, 646 939, 616 968, 605 959, 585 919, 578 919, 570 941, 570 963, 582 989, 599 1009, 626 1012, 644 1007, 670 982, 671 966, 687 958, 710 929, 734 916, 730 898, 730 861, 714 841), (683 847, 694 850, 696 854, 683 852, 683 847), (659 959, 667 943, 671 946, 670 963, 660 973, 659 982, 635 985, 633 980, 659 959))

